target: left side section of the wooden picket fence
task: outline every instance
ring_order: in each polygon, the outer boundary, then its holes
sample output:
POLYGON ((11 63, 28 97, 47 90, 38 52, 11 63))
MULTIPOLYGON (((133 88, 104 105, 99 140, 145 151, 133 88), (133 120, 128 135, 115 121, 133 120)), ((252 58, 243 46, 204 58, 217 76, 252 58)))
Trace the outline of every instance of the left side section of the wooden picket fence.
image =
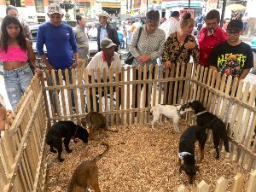
POLYGON ((35 76, 0 139, 0 191, 44 191, 47 118, 35 76))

